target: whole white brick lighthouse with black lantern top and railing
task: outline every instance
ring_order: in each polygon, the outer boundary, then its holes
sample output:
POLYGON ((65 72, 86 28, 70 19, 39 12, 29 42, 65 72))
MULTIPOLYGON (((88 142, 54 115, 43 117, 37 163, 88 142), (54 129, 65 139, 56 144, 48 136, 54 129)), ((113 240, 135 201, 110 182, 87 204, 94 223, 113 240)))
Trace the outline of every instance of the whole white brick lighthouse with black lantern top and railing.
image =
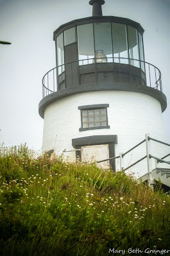
MULTIPOLYGON (((104 0, 89 4, 91 17, 62 24, 53 33, 56 67, 42 79, 38 107, 44 119, 42 151, 82 161, 108 159, 101 167, 119 171, 114 157, 133 148, 146 133, 166 141, 162 112, 167 100, 160 70, 145 62, 142 26, 103 16, 104 0)), ((169 153, 156 142, 151 150, 156 157, 169 153)), ((142 155, 146 148, 141 144, 124 155, 124 164, 130 166, 142 155)), ((145 175, 146 159, 128 171, 145 175)))

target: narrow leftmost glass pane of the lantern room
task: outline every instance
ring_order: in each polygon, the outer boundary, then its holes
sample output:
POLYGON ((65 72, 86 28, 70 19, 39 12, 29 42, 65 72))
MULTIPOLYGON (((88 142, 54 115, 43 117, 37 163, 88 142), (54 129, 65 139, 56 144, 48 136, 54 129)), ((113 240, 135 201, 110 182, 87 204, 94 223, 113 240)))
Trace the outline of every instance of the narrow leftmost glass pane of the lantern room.
POLYGON ((63 33, 56 38, 58 74, 64 72, 64 40, 63 33))

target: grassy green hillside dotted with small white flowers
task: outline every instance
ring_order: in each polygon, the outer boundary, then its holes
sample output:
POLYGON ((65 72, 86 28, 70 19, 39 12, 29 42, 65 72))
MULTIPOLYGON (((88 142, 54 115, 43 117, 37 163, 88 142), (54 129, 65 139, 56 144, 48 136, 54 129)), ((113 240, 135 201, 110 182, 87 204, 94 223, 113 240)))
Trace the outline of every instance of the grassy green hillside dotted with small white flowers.
POLYGON ((0 178, 1 255, 170 248, 170 199, 160 185, 154 192, 123 172, 33 157, 25 145, 1 151, 0 178))

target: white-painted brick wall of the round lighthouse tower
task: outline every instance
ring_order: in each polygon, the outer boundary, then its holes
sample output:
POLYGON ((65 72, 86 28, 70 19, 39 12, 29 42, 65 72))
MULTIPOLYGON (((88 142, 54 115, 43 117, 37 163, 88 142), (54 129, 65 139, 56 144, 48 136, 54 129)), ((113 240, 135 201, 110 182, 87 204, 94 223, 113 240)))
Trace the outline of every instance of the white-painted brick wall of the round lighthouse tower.
MULTIPOLYGON (((138 92, 85 92, 60 99, 46 107, 42 150, 55 149, 55 153, 60 155, 64 149, 74 149, 72 139, 91 135, 117 135, 115 155, 119 155, 119 152, 125 152, 144 140, 146 133, 166 142, 162 111, 157 99, 138 92), (81 115, 78 107, 94 104, 109 104, 107 110, 110 129, 79 132, 81 115)), ((151 142, 151 153, 155 157, 163 157, 169 153, 169 148, 157 142, 151 142)), ((75 152, 67 154, 75 157, 75 152)), ((145 143, 124 157, 125 167, 144 155, 146 155, 145 143)), ((119 160, 116 162, 119 169, 119 160)), ((153 161, 153 167, 154 165, 155 161, 153 161)), ((147 172, 146 160, 132 167, 130 171, 135 175, 144 175, 147 172)))

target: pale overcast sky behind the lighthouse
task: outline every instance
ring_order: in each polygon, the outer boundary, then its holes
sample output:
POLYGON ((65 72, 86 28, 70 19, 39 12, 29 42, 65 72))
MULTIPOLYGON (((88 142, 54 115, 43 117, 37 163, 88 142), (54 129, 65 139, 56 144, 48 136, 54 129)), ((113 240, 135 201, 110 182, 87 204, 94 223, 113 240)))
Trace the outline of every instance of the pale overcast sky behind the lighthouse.
MULTIPOLYGON (((144 28, 145 60, 162 73, 167 96, 164 124, 170 143, 170 0, 105 0, 103 15, 124 17, 144 28)), ((0 144, 27 143, 41 149, 43 119, 38 115, 42 77, 55 67, 53 31, 89 17, 88 0, 0 0, 0 144)), ((149 110, 148 110, 149 111, 149 110)))

